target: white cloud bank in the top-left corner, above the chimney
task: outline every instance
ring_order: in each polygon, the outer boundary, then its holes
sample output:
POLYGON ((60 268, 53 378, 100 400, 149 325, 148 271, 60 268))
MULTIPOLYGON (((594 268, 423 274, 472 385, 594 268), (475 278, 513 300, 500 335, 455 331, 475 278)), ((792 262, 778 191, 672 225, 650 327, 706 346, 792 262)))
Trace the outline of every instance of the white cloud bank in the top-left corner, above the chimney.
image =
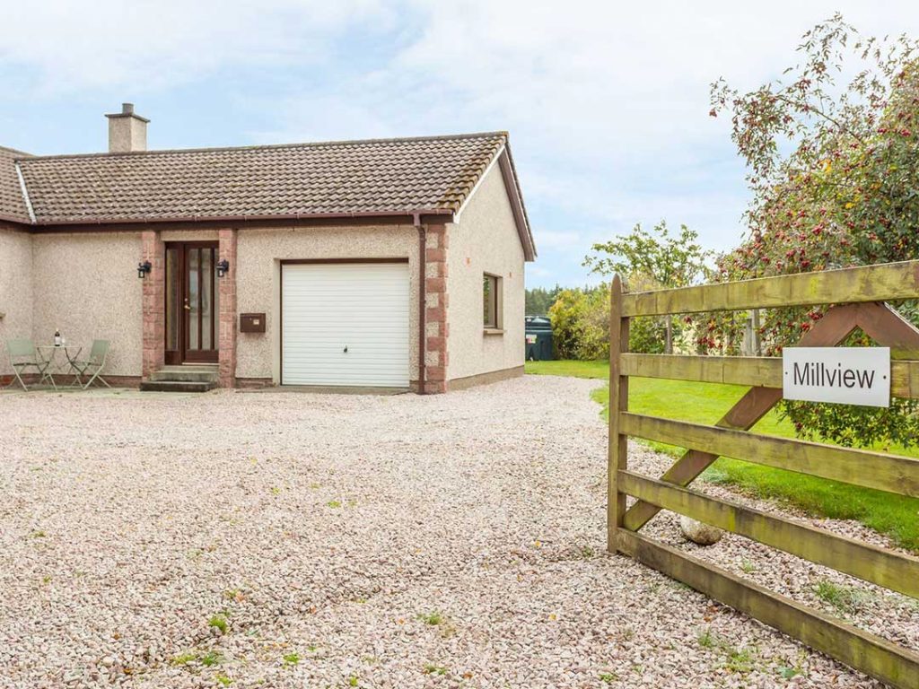
POLYGON ((0 0, 0 63, 44 96, 185 84, 233 65, 322 62, 342 30, 391 27, 377 0, 0 0))

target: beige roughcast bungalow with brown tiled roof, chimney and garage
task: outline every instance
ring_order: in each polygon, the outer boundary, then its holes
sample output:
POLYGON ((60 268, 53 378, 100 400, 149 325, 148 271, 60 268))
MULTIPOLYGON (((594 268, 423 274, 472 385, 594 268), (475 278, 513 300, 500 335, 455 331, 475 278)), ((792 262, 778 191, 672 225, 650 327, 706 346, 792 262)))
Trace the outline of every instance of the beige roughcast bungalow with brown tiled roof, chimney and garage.
POLYGON ((148 386, 522 372, 536 249, 506 132, 147 151, 130 104, 106 117, 108 153, 0 148, 0 346, 107 339, 108 378, 148 386))

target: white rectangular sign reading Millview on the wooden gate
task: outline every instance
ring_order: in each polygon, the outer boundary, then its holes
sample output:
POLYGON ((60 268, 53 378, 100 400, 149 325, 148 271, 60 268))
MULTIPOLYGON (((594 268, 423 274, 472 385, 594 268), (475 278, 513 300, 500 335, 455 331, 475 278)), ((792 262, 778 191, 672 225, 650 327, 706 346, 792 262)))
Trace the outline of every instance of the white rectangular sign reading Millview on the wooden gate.
POLYGON ((782 350, 786 400, 891 406, 889 347, 786 347, 782 350))

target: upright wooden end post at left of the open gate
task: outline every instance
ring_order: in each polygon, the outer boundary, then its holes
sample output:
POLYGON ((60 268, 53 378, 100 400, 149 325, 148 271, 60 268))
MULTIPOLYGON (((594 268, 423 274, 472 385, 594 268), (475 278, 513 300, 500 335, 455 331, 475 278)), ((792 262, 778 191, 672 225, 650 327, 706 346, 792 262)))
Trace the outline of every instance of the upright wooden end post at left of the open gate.
POLYGON ((622 315, 622 280, 609 286, 609 439, 607 446, 607 551, 616 552, 618 528, 626 512, 618 471, 629 467, 629 438, 619 432, 620 412, 629 409, 629 377, 622 374, 623 352, 629 351, 629 319, 622 315))

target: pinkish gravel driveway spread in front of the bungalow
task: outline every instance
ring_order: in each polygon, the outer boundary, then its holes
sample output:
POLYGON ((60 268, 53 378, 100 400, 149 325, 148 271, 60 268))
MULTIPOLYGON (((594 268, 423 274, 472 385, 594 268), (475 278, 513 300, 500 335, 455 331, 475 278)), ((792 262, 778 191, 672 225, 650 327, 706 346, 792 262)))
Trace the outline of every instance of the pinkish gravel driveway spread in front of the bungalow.
POLYGON ((604 553, 596 384, 0 395, 0 686, 876 686, 604 553))

